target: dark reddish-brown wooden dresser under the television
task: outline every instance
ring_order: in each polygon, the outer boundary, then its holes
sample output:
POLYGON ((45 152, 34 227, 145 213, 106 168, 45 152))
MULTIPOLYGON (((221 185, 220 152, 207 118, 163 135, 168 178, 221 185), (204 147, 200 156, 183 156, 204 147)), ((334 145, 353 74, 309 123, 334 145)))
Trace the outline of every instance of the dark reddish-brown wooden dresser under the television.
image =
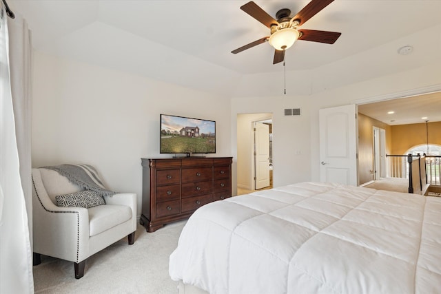
POLYGON ((232 196, 232 157, 141 158, 147 232, 188 218, 204 204, 232 196))

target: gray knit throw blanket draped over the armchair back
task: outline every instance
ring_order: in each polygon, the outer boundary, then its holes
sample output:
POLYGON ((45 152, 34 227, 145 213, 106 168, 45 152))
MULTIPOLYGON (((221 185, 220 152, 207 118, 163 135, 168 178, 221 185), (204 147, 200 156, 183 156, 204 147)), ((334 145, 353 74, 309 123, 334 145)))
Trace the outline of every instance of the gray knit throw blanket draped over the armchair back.
POLYGON ((101 196, 112 196, 116 193, 105 189, 103 181, 98 176, 98 172, 91 165, 56 165, 43 168, 58 171, 61 176, 65 176, 70 182, 86 190, 95 191, 101 196))

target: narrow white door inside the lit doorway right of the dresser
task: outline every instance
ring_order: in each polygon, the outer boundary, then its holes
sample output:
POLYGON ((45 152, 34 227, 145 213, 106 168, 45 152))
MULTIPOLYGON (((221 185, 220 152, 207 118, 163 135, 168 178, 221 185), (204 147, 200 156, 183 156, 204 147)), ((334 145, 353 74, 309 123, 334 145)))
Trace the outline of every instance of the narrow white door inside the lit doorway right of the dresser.
POLYGON ((269 186, 269 125, 254 124, 254 189, 269 186))

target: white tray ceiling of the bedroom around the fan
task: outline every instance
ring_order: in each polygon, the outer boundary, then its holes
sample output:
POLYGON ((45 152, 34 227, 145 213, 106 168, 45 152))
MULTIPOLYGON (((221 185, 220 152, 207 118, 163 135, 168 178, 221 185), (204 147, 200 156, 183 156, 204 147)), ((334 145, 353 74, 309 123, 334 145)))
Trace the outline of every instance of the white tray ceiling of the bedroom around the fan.
MULTIPOLYGON (((272 64, 268 43, 230 53, 269 35, 240 10, 246 2, 8 0, 38 51, 228 97, 280 95, 283 63, 272 64), (253 83, 256 76, 267 83, 253 83)), ((294 15, 309 0, 255 2, 275 17, 280 8, 294 15)), ((440 0, 336 0, 301 28, 341 32, 340 39, 297 41, 287 50, 287 87, 314 94, 440 61, 440 15, 440 0), (412 54, 397 53, 404 45, 412 54)))

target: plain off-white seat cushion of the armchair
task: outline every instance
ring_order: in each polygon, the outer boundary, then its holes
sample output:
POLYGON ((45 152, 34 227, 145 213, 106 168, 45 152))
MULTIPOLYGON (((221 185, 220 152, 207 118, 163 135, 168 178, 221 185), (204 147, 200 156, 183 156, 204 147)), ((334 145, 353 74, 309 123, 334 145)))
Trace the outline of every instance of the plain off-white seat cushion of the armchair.
POLYGON ((132 218, 132 209, 125 205, 105 204, 88 209, 89 235, 98 235, 132 218))

